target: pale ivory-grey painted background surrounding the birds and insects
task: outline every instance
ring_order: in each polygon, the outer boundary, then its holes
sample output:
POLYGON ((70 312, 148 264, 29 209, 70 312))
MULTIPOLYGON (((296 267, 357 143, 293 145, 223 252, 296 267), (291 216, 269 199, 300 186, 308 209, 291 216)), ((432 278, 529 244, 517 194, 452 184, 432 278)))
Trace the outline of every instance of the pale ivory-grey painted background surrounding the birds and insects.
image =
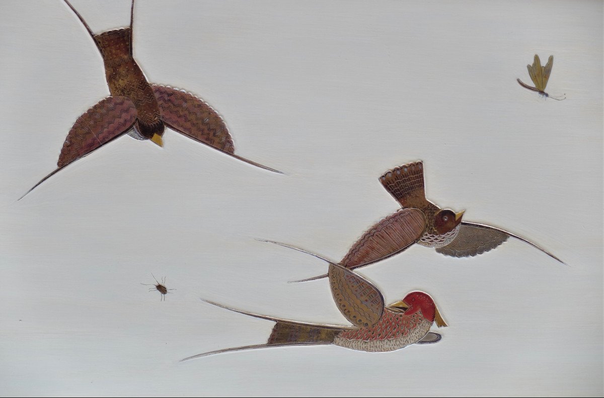
MULTIPOLYGON (((127 0, 74 6, 96 33, 127 0)), ((602 2, 140 1, 135 58, 225 118, 237 162, 166 131, 121 137, 16 201, 108 95, 58 0, 0 4, 0 385, 10 396, 588 396, 602 387, 602 2), (554 54, 548 92, 533 54, 554 54), (469 259, 412 247, 359 271, 387 302, 420 289, 431 346, 186 356, 266 341, 272 323, 346 324, 324 273, 397 209, 377 180, 422 159, 428 198, 532 239, 469 259), (140 283, 167 276, 159 301, 140 283)), ((545 61, 544 61, 545 62, 545 61)))

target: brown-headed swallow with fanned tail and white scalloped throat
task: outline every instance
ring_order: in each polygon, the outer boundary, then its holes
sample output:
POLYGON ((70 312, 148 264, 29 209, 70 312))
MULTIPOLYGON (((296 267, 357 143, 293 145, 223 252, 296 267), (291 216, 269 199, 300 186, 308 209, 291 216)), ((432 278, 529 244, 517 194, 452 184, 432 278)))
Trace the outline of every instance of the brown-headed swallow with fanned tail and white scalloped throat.
MULTIPOLYGON (((379 180, 388 193, 400 203, 402 209, 367 230, 338 263, 343 267, 350 270, 365 267, 365 265, 399 254, 416 243, 435 248, 445 256, 476 256, 498 247, 510 236, 526 242, 562 262, 558 257, 518 235, 484 224, 462 221, 463 211, 454 212, 450 209, 441 209, 426 199, 421 161, 389 170, 379 180)), ((298 247, 265 239, 258 240, 294 248, 331 262, 319 254, 298 247)), ((295 282, 306 282, 326 276, 321 275, 295 282)))

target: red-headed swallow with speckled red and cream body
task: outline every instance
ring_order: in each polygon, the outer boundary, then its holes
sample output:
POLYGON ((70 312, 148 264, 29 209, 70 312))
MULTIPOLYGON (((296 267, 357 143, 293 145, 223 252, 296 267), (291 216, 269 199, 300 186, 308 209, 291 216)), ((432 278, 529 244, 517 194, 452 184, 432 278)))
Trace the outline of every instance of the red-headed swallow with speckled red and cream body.
POLYGON ((434 300, 425 292, 410 292, 400 301, 384 305, 384 296, 373 283, 337 264, 329 264, 329 285, 333 301, 353 326, 304 323, 266 315, 252 314, 210 304, 276 322, 266 344, 222 349, 182 359, 199 358, 217 353, 283 346, 336 346, 366 352, 386 352, 410 344, 436 343, 442 336, 429 332, 433 323, 447 326, 434 300))

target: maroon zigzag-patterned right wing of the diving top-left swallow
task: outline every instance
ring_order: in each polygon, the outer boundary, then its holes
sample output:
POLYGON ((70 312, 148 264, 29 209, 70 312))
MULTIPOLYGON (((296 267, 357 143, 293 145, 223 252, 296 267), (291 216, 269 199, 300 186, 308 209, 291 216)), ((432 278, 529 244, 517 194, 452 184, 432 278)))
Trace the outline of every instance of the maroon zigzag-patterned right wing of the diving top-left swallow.
POLYGON ((191 93, 152 85, 162 120, 179 133, 233 154, 233 139, 220 115, 191 93))

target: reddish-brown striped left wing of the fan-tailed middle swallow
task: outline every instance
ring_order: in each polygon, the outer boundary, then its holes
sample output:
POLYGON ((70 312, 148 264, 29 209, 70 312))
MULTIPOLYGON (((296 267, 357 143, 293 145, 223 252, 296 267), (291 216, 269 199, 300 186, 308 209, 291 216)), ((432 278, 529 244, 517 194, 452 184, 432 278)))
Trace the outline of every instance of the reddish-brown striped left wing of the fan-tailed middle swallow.
POLYGON ((401 209, 365 232, 339 264, 352 270, 394 256, 417 242, 425 229, 421 210, 401 209))

